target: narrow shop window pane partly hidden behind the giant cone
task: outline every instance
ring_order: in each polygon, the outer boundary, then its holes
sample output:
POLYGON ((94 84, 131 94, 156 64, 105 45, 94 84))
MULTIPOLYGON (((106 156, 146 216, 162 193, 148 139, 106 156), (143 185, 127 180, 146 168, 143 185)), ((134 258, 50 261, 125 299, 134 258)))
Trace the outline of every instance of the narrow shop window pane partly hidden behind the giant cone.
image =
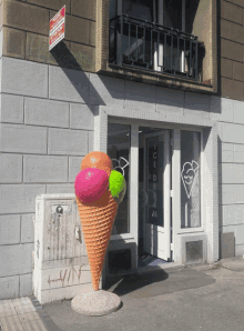
POLYGON ((131 126, 108 123, 108 156, 113 169, 120 171, 126 181, 126 192, 119 204, 112 234, 130 232, 130 150, 131 126))

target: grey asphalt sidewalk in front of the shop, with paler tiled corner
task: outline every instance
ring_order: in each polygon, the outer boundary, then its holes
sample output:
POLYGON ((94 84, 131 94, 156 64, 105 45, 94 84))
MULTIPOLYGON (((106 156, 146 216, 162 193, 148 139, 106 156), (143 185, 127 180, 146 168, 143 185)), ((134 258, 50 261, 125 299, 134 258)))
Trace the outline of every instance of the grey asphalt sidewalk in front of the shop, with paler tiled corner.
POLYGON ((122 308, 104 317, 84 317, 70 300, 41 307, 31 298, 0 301, 1 331, 243 331, 244 259, 215 265, 128 275, 109 288, 122 308))

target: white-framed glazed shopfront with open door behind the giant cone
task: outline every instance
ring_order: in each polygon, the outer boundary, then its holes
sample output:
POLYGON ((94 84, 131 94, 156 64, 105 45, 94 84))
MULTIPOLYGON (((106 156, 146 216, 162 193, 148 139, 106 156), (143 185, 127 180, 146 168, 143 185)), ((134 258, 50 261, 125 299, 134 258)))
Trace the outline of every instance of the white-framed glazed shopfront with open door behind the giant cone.
MULTIPOLYGON (((204 233, 201 130, 130 121, 111 118, 108 123, 108 154, 126 181, 108 265, 118 274, 203 259, 203 241, 197 239, 204 233)), ((112 277, 111 271, 108 274, 112 277)))

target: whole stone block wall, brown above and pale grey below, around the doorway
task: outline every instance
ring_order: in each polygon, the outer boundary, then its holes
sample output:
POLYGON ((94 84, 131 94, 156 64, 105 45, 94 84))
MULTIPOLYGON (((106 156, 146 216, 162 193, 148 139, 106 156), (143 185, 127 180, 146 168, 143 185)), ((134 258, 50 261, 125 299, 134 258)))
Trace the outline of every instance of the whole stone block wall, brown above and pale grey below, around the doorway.
POLYGON ((220 232, 235 232, 235 253, 243 253, 241 2, 221 1, 220 98, 92 73, 94 1, 1 1, 0 299, 31 293, 35 197, 73 193, 82 157, 93 150, 96 106, 133 111, 139 118, 153 112, 155 120, 174 113, 196 117, 200 123, 202 118, 218 121, 220 232), (49 52, 49 20, 63 4, 70 31, 49 52))

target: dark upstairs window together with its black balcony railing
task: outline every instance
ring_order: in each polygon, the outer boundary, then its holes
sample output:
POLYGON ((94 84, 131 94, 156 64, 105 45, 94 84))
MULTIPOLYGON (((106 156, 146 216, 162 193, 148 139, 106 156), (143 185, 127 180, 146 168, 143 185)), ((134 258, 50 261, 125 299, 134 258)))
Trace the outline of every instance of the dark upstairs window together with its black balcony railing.
POLYGON ((199 80, 197 37, 185 32, 186 0, 113 0, 110 62, 199 80))

